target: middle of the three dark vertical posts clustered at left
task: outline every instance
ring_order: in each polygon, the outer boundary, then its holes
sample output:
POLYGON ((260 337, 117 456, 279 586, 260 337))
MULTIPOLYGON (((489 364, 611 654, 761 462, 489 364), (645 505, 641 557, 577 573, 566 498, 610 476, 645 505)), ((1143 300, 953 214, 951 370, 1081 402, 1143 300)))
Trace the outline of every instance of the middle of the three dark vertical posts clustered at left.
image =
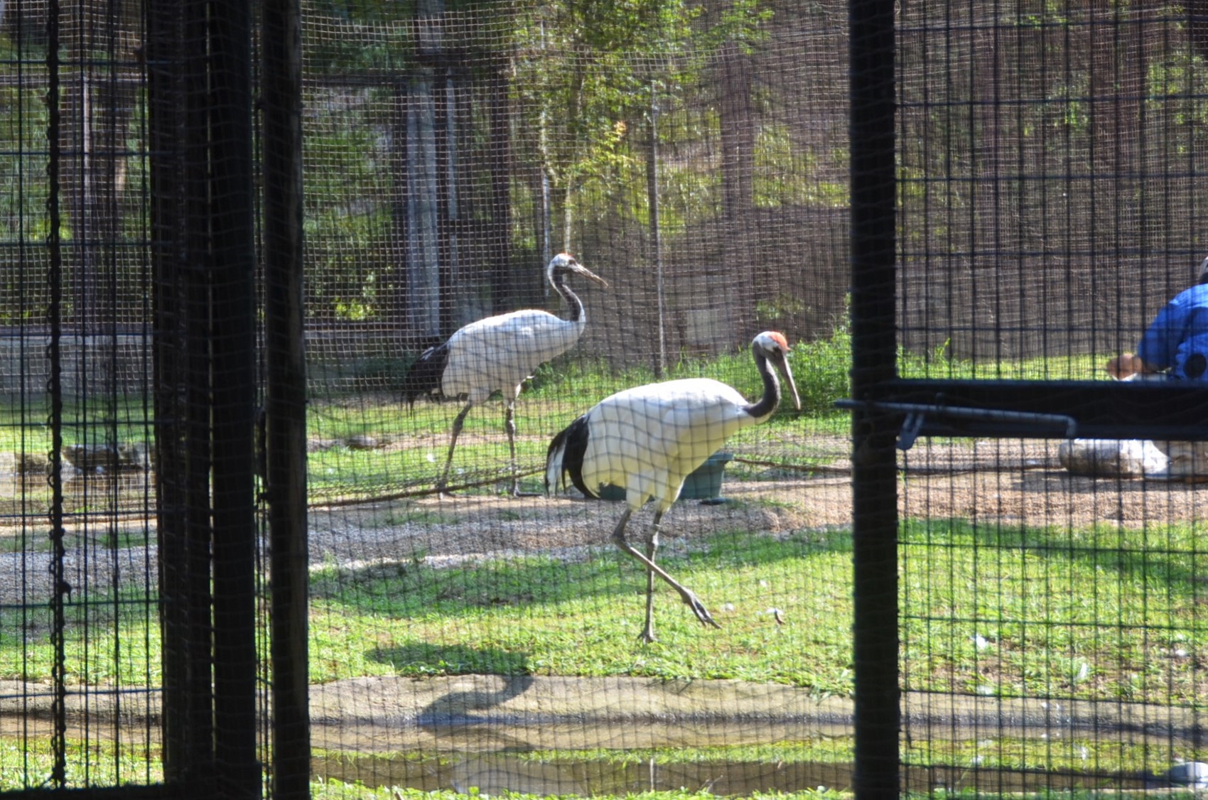
POLYGON ((251 11, 208 18, 214 758, 217 793, 259 798, 256 759, 255 226, 251 11))

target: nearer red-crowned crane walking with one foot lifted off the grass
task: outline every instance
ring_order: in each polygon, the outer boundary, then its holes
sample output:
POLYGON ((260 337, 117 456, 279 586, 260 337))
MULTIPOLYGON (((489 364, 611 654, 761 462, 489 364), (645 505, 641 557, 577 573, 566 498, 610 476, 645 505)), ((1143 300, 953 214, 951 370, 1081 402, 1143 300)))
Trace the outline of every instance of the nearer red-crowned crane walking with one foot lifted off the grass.
POLYGON ((646 627, 641 632, 646 642, 655 640, 655 575, 679 592, 702 625, 720 627, 696 595, 655 563, 658 526, 679 498, 684 479, 736 430, 763 422, 776 411, 780 382, 769 363, 789 384, 792 405, 801 408, 784 336, 760 334, 751 342, 751 353, 763 377, 763 396, 755 402, 709 378, 647 383, 600 400, 550 442, 547 492, 564 487, 567 475, 587 497, 599 497, 600 487, 609 483, 625 488, 626 509, 612 529, 612 543, 646 567, 646 627), (649 499, 655 502, 655 518, 643 556, 626 541, 625 526, 649 499))

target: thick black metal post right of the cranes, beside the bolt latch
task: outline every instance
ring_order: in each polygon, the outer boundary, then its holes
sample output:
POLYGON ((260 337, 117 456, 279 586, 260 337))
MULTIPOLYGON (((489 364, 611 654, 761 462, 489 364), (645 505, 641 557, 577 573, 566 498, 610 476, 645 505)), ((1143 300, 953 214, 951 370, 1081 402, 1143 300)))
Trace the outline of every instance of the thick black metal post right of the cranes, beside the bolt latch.
MULTIPOLYGON (((894 0, 850 0, 852 392, 896 373, 894 0)), ((856 798, 899 796, 898 481, 894 430, 853 416, 856 798)))

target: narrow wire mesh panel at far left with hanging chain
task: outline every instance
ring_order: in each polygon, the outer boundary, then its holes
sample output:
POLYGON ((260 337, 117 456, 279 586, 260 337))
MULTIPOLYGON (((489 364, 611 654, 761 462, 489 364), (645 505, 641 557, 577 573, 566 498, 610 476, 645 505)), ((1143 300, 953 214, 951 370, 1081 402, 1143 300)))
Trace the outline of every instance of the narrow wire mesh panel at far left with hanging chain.
POLYGON ((0 46, 0 789, 161 779, 141 27, 47 11, 0 46))

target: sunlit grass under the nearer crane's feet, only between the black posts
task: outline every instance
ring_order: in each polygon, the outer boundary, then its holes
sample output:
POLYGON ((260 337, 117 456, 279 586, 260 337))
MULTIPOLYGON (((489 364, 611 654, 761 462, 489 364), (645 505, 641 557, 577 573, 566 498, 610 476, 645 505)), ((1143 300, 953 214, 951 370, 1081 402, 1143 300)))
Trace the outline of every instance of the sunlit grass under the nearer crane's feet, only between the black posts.
POLYGON ((660 589, 661 640, 638 640, 645 576, 615 549, 580 563, 544 557, 477 567, 400 566, 312 575, 310 678, 360 674, 574 674, 738 678, 850 688, 849 538, 718 535, 707 552, 661 558, 721 622, 705 631, 660 589), (727 603, 732 604, 732 609, 727 603), (779 626, 768 608, 780 608, 779 626))

